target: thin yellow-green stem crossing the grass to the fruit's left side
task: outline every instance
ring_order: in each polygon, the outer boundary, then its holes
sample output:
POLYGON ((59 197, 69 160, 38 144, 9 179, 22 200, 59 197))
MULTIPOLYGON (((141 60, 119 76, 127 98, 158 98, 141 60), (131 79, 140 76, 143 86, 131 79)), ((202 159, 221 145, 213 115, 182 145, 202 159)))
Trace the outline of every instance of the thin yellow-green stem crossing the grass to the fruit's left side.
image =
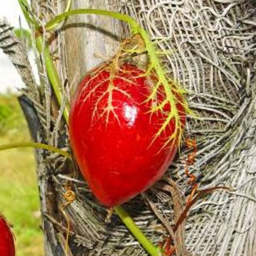
POLYGON ((71 156, 69 153, 67 153, 64 150, 61 150, 59 148, 55 148, 52 145, 47 145, 43 143, 36 143, 36 142, 21 142, 21 143, 10 143, 6 145, 0 145, 0 151, 6 150, 6 149, 11 149, 11 148, 41 148, 41 149, 46 149, 48 151, 53 151, 55 153, 61 154, 64 157, 67 157, 71 159, 71 156))

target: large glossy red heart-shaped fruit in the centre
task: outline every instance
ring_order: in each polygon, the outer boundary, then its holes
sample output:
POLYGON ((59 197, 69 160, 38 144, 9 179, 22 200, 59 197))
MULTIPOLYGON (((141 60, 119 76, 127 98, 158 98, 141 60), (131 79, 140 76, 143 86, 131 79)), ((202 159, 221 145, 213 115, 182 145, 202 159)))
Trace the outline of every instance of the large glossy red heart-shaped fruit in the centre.
MULTIPOLYGON (((152 112, 155 76, 131 64, 115 73, 102 65, 87 74, 71 102, 70 142, 82 174, 107 207, 122 204, 155 183, 171 163, 177 141, 172 119, 156 137, 170 106, 152 112)), ((158 93, 157 100, 163 100, 158 93)), ((179 99, 180 96, 177 96, 179 99)), ((176 104, 185 123, 184 108, 176 104)))

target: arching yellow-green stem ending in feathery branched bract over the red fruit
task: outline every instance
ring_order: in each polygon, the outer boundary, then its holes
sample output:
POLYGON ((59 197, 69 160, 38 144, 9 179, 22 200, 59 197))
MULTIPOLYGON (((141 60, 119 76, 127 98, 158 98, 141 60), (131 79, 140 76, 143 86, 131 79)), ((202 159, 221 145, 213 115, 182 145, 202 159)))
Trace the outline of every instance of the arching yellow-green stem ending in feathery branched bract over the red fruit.
MULTIPOLYGON (((169 115, 166 117, 166 119, 163 122, 163 125, 161 126, 161 128, 159 129, 159 131, 157 132, 156 136, 159 136, 162 132, 164 132, 165 128, 169 125, 169 122, 172 120, 172 118, 175 119, 175 131, 172 134, 172 136, 166 141, 165 145, 166 146, 168 143, 170 143, 172 140, 174 142, 177 142, 178 145, 180 145, 180 140, 181 140, 181 130, 183 129, 183 126, 181 124, 180 121, 180 113, 178 113, 177 107, 176 107, 176 103, 177 101, 179 101, 179 103, 181 105, 183 105, 186 113, 189 113, 189 108, 186 104, 186 101, 184 99, 177 99, 177 97, 175 97, 175 94, 173 93, 174 91, 178 91, 175 86, 170 86, 171 83, 169 79, 166 78, 165 76, 165 72, 163 70, 163 68, 161 67, 160 61, 157 58, 157 53, 156 53, 156 49, 154 47, 154 44, 151 42, 147 32, 145 31, 145 29, 143 29, 136 20, 134 20, 134 18, 125 15, 125 14, 121 14, 118 12, 111 12, 111 11, 106 11, 106 10, 99 10, 99 9, 76 9, 76 10, 71 10, 65 13, 62 13, 56 17, 54 17, 52 20, 50 20, 45 26, 44 28, 47 31, 51 31, 52 29, 54 29, 54 27, 56 26, 56 24, 60 23, 62 20, 64 20, 65 18, 72 16, 72 15, 105 15, 108 17, 113 17, 117 20, 121 20, 124 21, 125 23, 128 23, 130 25, 131 28, 131 34, 132 35, 136 35, 136 34, 140 34, 141 37, 143 38, 143 41, 145 43, 145 48, 148 52, 148 56, 150 58, 151 61, 151 67, 154 68, 159 81, 157 82, 157 84, 154 87, 154 90, 151 93, 151 96, 149 96, 149 99, 153 99, 154 96, 156 96, 157 90, 159 89, 159 87, 161 85, 163 85, 164 90, 165 90, 165 94, 166 94, 166 100, 163 101, 163 103, 161 103, 159 106, 156 107, 157 109, 161 109, 163 108, 163 105, 165 105, 167 102, 169 102, 170 106, 172 106, 169 115), (178 141, 175 140, 175 138, 178 138, 178 141)), ((173 85, 173 82, 172 82, 173 85)), ((180 93, 182 93, 182 90, 179 90, 180 93)), ((184 113, 185 114, 185 113, 184 113)))

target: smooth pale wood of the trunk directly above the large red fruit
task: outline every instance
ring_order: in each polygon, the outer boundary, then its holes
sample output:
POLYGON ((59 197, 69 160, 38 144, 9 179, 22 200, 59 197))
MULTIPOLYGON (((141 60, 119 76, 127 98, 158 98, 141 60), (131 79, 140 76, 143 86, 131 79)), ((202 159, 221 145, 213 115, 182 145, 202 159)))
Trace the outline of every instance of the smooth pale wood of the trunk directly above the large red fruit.
MULTIPOLYGON (((118 11, 119 1, 72 2, 72 9, 87 8, 118 11)), ((99 15, 70 17, 64 26, 64 52, 62 52, 62 59, 66 60, 69 83, 76 87, 88 70, 112 57, 121 37, 123 37, 122 24, 113 18, 99 15)))

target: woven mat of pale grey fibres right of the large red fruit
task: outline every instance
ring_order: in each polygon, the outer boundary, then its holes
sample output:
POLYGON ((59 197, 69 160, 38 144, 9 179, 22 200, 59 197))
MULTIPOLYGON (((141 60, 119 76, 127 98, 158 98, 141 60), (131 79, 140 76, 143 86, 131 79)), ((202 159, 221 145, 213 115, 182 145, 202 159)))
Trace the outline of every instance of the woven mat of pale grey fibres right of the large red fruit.
MULTIPOLYGON (((170 76, 188 92, 198 143, 191 171, 202 187, 225 185, 199 201, 186 222, 186 247, 200 256, 256 255, 256 2, 122 1, 148 30, 170 76)), ((186 154, 186 152, 184 152, 186 154)), ((182 158, 175 163, 183 183, 182 158)))

